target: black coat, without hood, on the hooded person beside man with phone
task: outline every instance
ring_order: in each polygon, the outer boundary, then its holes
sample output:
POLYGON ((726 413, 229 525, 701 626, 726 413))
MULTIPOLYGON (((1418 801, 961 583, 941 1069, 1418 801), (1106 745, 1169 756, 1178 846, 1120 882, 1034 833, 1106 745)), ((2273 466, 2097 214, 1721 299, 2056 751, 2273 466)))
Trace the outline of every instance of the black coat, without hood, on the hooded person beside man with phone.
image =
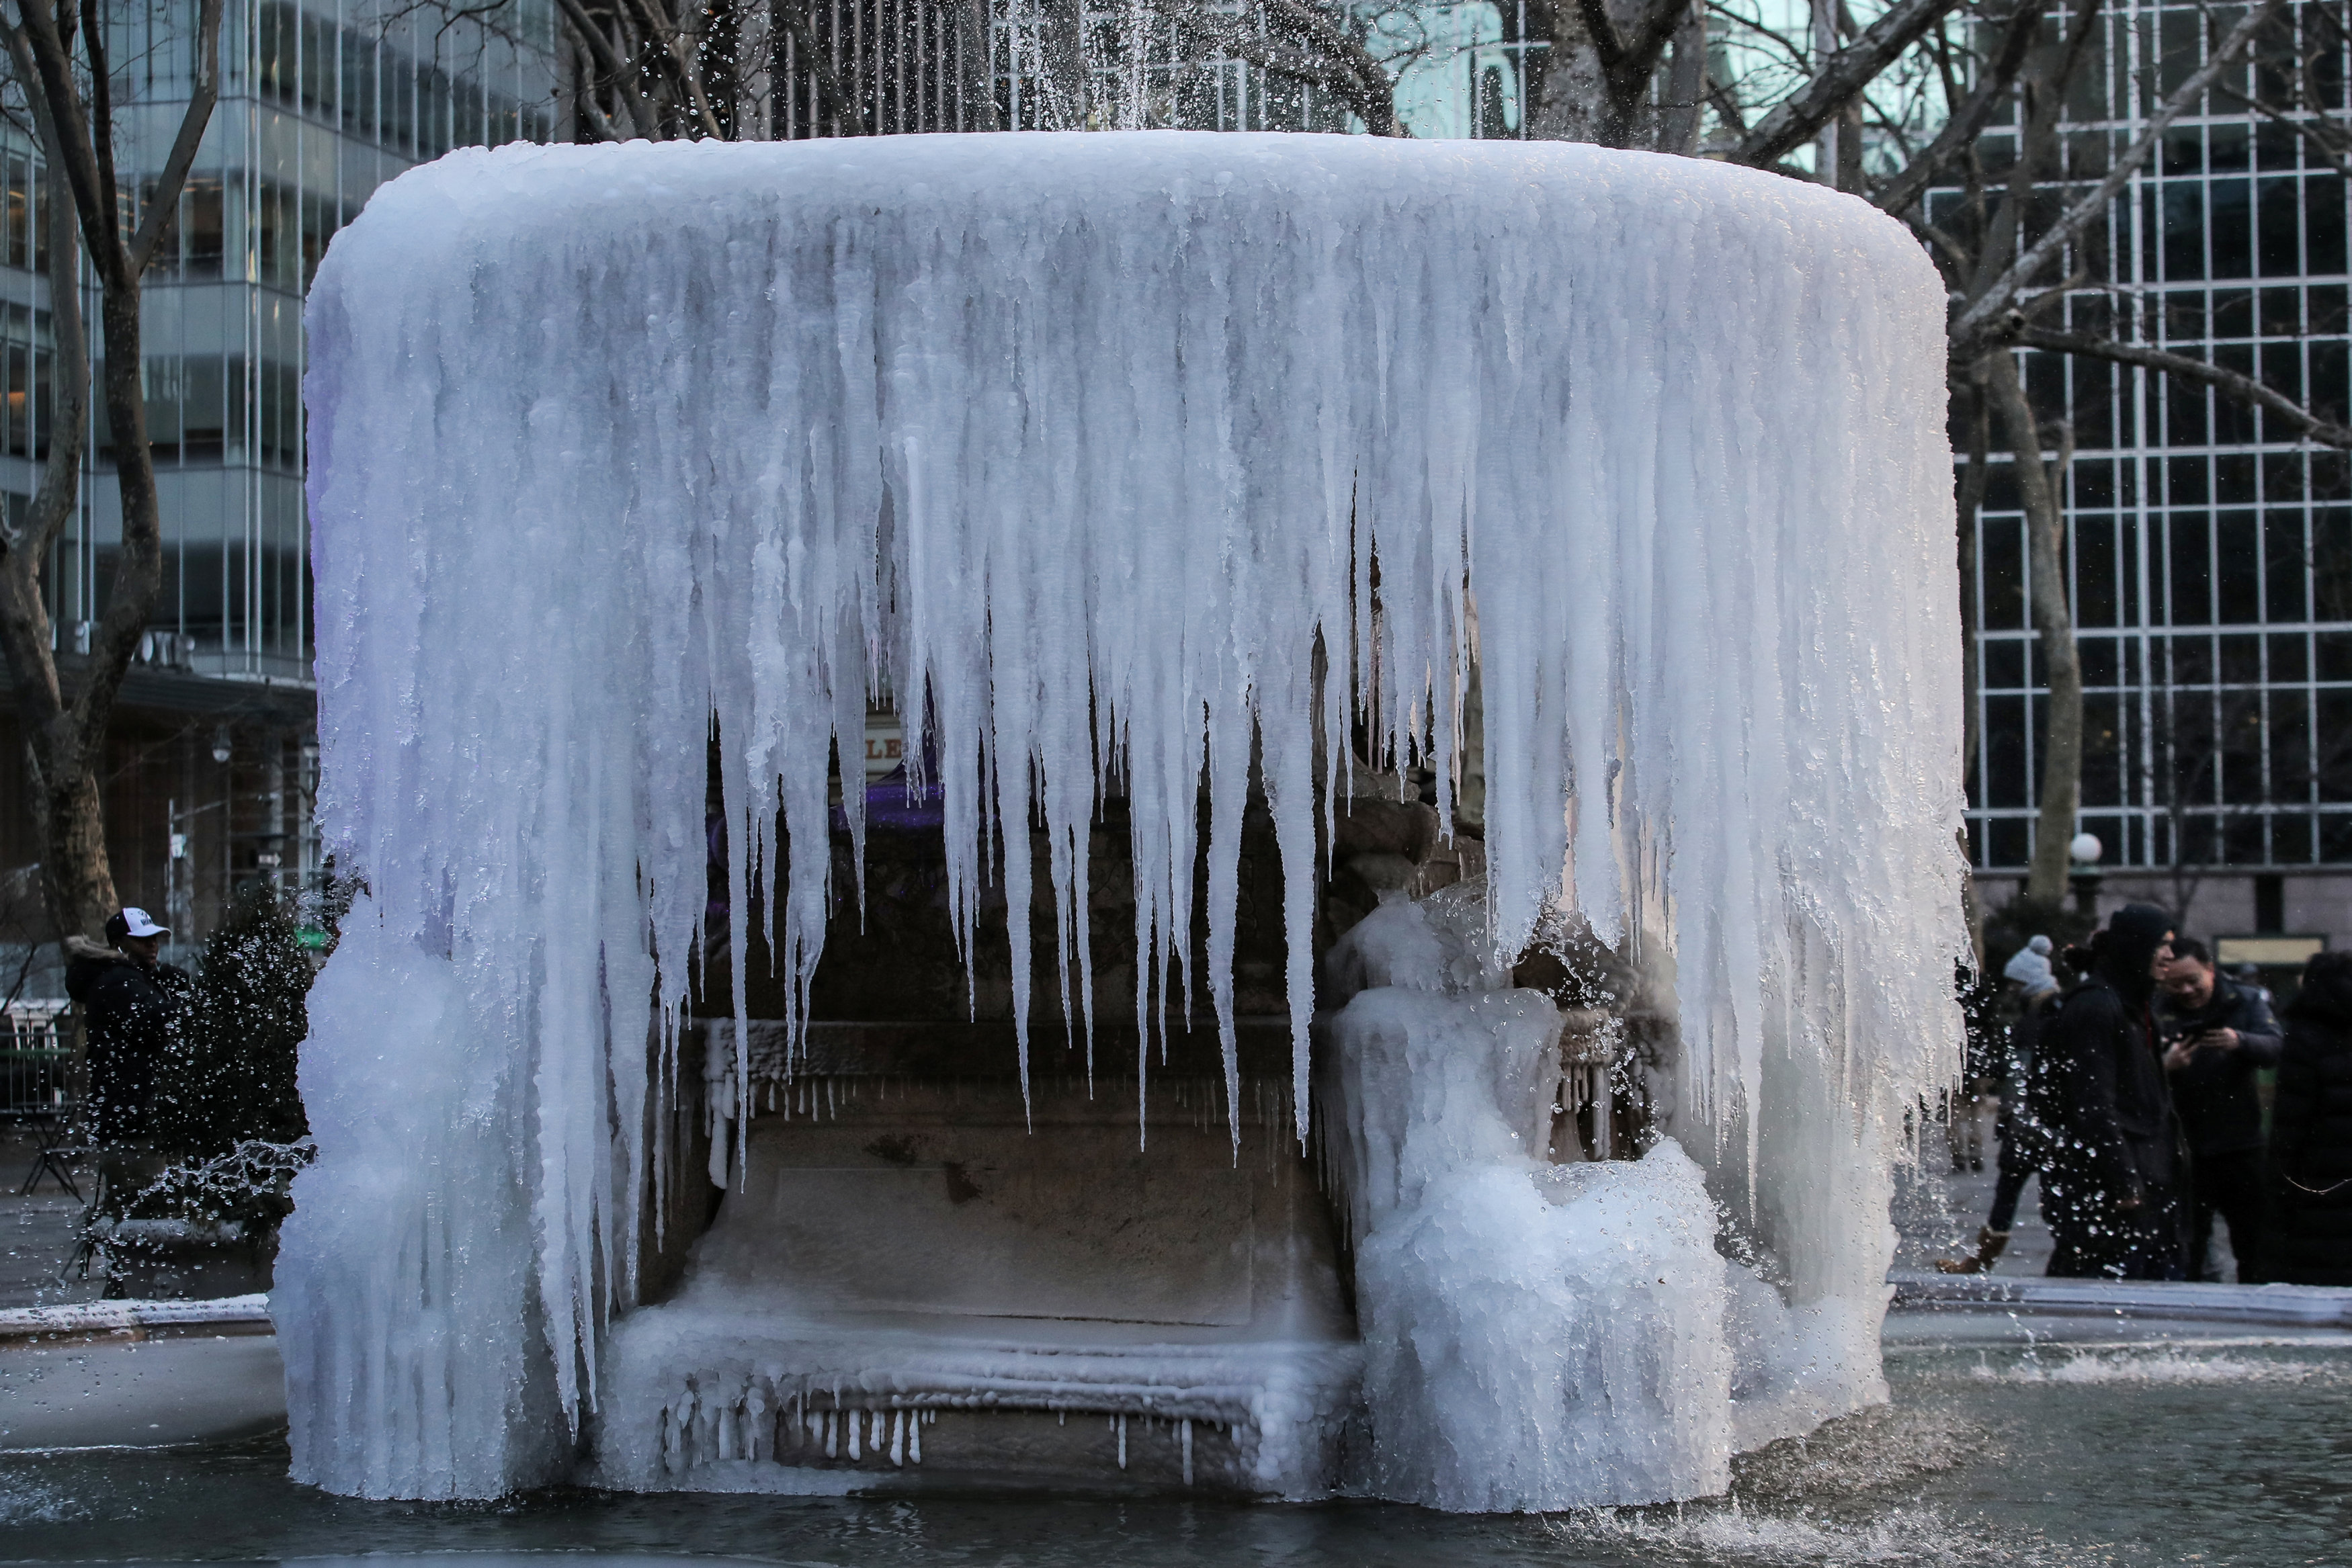
POLYGON ((2034 1041, 2027 1107, 2067 1192, 2164 1201, 2178 1180, 2173 1103, 2150 1016, 2105 976, 2084 980, 2034 1041))

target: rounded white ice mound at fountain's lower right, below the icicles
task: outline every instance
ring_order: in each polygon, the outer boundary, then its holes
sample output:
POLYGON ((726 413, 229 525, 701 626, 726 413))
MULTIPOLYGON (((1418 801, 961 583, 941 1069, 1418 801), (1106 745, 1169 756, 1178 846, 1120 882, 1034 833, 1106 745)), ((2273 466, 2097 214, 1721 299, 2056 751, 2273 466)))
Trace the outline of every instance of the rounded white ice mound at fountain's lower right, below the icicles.
POLYGON ((1385 905, 1327 959, 1374 1490, 1458 1512, 1698 1497, 1736 1448, 1884 1396, 1875 1300, 1792 1312, 1724 1258, 1672 1138, 1550 1159, 1559 1011, 1479 971, 1468 893, 1385 905))

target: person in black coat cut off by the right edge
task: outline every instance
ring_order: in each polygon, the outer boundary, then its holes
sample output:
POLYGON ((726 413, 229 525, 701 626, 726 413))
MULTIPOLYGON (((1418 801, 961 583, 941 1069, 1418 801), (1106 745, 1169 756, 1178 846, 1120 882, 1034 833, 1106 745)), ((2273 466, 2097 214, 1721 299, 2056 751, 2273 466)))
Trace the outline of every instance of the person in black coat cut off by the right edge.
POLYGON ((2352 952, 2314 952, 2286 1006, 2270 1194, 2265 1279, 2352 1286, 2352 952))

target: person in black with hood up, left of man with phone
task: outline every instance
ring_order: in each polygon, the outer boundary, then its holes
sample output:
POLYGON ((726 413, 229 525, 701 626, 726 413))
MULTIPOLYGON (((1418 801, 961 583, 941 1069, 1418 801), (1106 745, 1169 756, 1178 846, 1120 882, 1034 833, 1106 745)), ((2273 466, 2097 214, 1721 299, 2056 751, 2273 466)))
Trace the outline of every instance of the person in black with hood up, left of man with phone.
POLYGON ((2152 1011, 2171 940, 2171 914, 2124 905, 2091 938, 2091 976, 2042 1025, 2027 1105, 2049 1138, 2056 1276, 2180 1279, 2180 1133, 2152 1011))

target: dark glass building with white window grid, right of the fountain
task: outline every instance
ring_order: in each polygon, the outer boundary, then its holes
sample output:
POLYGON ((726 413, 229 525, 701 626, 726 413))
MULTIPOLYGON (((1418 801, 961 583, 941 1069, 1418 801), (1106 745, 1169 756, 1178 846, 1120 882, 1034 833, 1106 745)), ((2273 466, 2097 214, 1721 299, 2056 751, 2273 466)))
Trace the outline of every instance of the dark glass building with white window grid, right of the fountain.
MULTIPOLYGON (((2291 33, 2220 75, 2067 259, 2077 287, 2063 324, 2258 371, 2345 421, 2345 176, 2296 129, 2307 113, 2253 108, 2300 89, 2340 113, 2345 38, 2319 7, 2288 16, 2291 33)), ((2152 106, 2204 63, 2206 26, 2192 5, 2124 0, 2103 14, 2105 68, 2084 73, 2063 122, 2067 179, 2107 174, 2152 106)), ((1983 143, 1990 167, 2013 148, 2016 125, 1983 143)), ((2025 378, 2053 421, 2049 440, 2058 418, 2072 437, 2063 501, 2086 689, 2082 827, 2105 851, 2100 905, 2150 898, 2265 961, 2352 929, 2345 454, 2145 369, 2030 353, 2025 378)), ((1997 905, 2034 846, 2046 696, 2025 522, 1999 451, 1966 567, 1980 625, 1969 844, 1997 905)))

